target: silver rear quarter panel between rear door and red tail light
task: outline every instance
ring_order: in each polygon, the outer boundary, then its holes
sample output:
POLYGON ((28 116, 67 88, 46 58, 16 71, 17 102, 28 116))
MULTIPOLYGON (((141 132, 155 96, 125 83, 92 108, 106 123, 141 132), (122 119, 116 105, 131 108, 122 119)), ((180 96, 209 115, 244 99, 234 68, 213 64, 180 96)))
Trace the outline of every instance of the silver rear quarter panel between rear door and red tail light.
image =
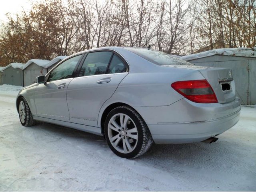
POLYGON ((158 66, 158 72, 129 73, 100 109, 98 125, 104 110, 111 104, 120 102, 134 108, 170 106, 184 98, 171 87, 172 82, 196 79, 204 79, 197 70, 162 66, 158 66))

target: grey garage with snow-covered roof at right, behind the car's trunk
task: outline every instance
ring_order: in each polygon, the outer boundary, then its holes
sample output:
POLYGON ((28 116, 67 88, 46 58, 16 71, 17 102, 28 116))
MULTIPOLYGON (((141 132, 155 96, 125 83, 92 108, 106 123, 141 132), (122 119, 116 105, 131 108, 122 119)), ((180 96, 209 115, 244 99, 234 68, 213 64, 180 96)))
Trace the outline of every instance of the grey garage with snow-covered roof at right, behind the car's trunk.
POLYGON ((180 57, 196 66, 232 69, 236 95, 242 105, 256 104, 256 51, 251 48, 214 49, 180 57))

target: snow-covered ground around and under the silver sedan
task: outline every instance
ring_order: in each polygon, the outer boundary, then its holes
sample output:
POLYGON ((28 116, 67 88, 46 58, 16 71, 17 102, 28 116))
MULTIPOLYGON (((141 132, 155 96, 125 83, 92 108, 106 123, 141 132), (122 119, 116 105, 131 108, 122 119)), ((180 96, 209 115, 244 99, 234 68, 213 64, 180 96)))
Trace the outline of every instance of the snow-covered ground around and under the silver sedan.
POLYGON ((21 126, 19 89, 0 86, 0 191, 256 190, 256 106, 243 106, 238 124, 213 144, 153 145, 127 160, 100 136, 21 126))

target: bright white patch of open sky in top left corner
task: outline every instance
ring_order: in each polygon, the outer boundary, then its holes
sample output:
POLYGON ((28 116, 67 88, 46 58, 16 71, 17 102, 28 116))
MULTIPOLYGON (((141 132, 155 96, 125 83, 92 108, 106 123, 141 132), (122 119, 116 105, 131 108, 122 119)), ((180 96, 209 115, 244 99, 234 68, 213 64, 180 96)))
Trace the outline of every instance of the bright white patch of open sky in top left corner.
POLYGON ((0 6, 0 22, 6 22, 6 13, 10 12, 11 15, 15 15, 24 10, 29 10, 32 2, 38 2, 40 0, 1 0, 0 6))

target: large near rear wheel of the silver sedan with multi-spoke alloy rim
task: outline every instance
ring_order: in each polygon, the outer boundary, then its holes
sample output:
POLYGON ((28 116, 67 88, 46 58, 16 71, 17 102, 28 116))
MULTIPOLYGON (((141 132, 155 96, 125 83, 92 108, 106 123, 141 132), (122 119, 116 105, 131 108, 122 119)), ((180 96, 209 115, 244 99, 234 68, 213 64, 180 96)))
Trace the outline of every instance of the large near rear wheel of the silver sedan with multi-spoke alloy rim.
POLYGON ((136 158, 153 143, 142 117, 128 106, 116 107, 108 114, 104 134, 110 149, 122 158, 136 158))

